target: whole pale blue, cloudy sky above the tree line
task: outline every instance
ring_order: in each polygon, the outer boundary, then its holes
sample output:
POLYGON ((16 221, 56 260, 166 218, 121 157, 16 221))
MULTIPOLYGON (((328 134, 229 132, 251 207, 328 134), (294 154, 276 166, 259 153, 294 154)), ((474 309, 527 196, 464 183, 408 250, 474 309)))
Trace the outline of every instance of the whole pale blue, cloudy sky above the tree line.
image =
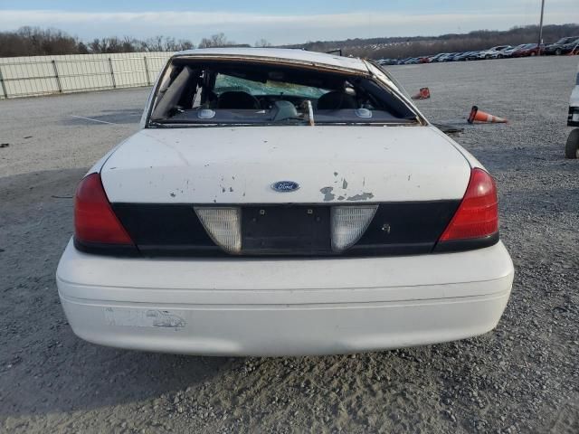
MULTIPOLYGON (((545 24, 579 23, 579 0, 546 0, 545 24)), ((380 36, 508 30, 538 24, 541 0, 0 0, 0 32, 23 25, 61 29, 81 40, 173 36, 199 42, 225 33, 273 44, 380 36)))

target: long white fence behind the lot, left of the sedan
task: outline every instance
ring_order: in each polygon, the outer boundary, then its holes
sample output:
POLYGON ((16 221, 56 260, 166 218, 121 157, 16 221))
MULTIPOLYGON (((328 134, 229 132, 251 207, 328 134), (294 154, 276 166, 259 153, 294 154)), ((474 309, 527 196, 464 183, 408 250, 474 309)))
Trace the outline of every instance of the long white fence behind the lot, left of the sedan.
POLYGON ((172 52, 0 58, 0 99, 150 86, 172 52))

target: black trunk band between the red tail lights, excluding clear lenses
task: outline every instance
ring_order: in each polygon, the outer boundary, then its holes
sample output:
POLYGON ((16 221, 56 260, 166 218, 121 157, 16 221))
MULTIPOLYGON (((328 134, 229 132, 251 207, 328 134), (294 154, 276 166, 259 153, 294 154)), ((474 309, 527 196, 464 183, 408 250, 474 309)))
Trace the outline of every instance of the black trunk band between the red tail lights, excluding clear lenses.
MULTIPOLYGON (((343 252, 331 249, 330 210, 332 205, 346 204, 243 205, 241 254, 390 256, 430 253, 459 203, 458 200, 380 203, 362 238, 343 252)), ((193 204, 113 203, 112 207, 145 256, 230 256, 215 245, 204 230, 193 204)))

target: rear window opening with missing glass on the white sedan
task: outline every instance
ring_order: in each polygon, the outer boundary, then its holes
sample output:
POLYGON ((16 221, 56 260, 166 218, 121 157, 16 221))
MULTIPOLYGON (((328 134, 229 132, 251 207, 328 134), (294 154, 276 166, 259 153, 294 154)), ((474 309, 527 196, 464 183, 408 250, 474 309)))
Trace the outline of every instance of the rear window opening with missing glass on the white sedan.
POLYGON ((400 124, 416 115, 383 83, 347 73, 175 59, 149 125, 400 124))

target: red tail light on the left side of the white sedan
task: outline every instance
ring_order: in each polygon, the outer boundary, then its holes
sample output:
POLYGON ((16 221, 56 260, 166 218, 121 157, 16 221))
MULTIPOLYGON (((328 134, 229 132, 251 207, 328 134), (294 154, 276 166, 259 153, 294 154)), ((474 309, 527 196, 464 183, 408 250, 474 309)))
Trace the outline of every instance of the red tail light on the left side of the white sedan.
POLYGON ((83 243, 133 245, 110 208, 99 174, 85 177, 74 196, 74 238, 83 243))

